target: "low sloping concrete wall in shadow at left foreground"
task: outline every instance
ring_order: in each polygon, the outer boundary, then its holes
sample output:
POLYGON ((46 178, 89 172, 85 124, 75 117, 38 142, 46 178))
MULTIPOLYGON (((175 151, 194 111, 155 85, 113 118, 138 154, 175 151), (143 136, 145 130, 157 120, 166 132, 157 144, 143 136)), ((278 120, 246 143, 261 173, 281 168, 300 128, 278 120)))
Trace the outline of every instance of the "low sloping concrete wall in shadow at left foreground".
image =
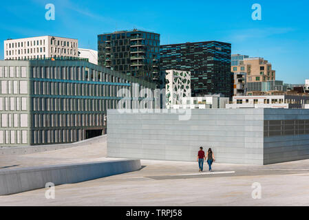
POLYGON ((10 195, 37 188, 45 188, 48 182, 54 185, 74 184, 136 171, 141 168, 139 159, 19 168, 0 171, 0 195, 10 195))

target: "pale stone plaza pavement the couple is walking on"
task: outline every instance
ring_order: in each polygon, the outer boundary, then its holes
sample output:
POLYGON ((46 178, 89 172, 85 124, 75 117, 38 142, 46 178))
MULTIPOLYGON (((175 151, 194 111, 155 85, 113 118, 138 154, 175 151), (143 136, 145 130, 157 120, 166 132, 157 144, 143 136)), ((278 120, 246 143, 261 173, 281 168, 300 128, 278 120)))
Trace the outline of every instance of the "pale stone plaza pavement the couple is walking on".
MULTIPOLYGON (((106 157, 106 137, 100 138, 100 144, 0 156, 0 168, 113 159, 106 157)), ((215 163, 213 173, 199 173, 196 162, 141 162, 136 172, 56 186, 55 199, 45 199, 45 189, 39 189, 1 196, 0 206, 309 205, 309 159, 267 166, 215 163), (262 186, 261 199, 251 196, 255 182, 262 186)))

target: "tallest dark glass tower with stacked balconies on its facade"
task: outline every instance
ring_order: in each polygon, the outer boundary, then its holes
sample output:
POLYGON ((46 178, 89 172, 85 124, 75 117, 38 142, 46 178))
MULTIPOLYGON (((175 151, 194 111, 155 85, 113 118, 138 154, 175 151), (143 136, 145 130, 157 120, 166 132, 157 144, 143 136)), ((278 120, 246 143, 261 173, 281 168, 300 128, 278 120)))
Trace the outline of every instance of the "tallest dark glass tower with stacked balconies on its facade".
POLYGON ((159 80, 160 34, 124 30, 98 35, 98 64, 149 82, 159 80))

